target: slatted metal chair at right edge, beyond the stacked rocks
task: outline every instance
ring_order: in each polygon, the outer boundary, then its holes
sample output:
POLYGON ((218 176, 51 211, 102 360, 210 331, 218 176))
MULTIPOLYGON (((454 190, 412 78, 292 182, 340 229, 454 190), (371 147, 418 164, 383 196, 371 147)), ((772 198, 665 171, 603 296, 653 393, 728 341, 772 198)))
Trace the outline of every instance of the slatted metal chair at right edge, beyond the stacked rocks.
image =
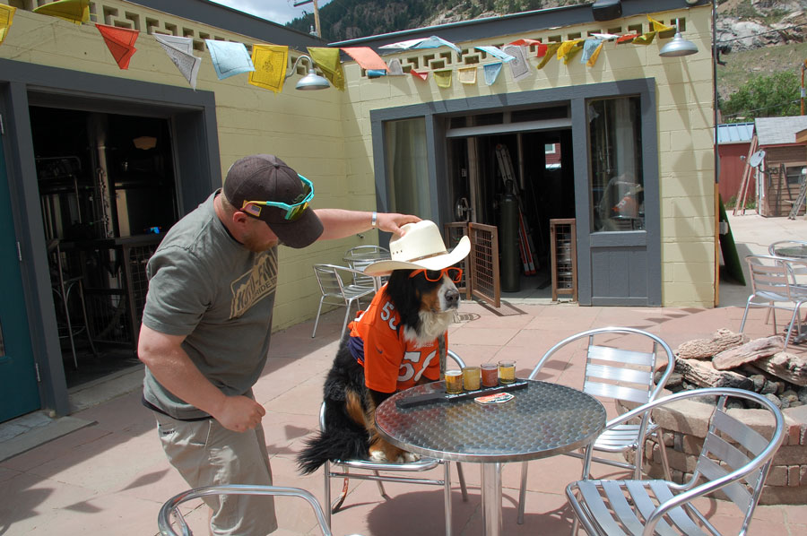
POLYGON ((748 297, 745 311, 742 313, 740 333, 745 328, 748 310, 751 307, 768 307, 768 312, 773 313, 774 334, 777 333, 777 309, 791 311, 790 324, 785 335, 785 347, 782 349, 787 350, 794 325, 797 335, 802 332, 800 307, 807 302, 807 285, 800 283, 796 278, 800 273, 807 272, 807 260, 774 255, 748 255, 745 261, 751 275, 751 296, 748 297), (755 302, 754 299, 761 299, 762 302, 755 302))

